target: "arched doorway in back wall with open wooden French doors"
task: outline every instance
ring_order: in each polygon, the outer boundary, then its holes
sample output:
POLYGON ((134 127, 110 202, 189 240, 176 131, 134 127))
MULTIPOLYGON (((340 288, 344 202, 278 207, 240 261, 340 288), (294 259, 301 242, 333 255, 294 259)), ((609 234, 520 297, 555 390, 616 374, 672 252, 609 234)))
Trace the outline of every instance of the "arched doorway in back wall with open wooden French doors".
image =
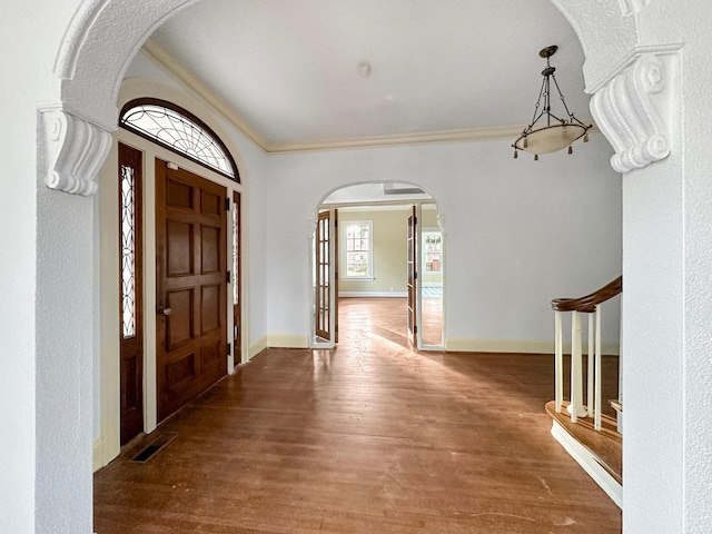
POLYGON ((390 299, 388 309, 396 314, 402 303, 395 338, 416 349, 442 350, 444 234, 436 199, 413 184, 359 184, 329 192, 317 214, 313 346, 338 342, 339 329, 348 327, 339 320, 338 304, 358 298, 373 306, 390 299))

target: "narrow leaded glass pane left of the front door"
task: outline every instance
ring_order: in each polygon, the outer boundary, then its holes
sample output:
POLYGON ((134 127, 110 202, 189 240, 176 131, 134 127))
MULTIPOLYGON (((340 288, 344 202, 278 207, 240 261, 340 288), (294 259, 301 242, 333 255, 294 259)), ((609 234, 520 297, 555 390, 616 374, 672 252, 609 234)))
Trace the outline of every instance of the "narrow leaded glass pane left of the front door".
POLYGON ((121 165, 121 310, 123 338, 136 335, 136 177, 121 165))

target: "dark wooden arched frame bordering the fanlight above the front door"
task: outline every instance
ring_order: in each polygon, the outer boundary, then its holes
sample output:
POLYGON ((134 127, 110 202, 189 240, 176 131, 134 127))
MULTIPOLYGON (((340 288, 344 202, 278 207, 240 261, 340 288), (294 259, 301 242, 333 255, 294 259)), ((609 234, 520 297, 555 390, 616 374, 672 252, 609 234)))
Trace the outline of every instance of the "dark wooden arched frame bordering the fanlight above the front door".
POLYGON ((225 142, 222 142, 222 139, 220 139, 218 137, 218 135, 212 131, 212 129, 206 125, 201 119, 199 119, 198 117, 196 117, 195 115, 192 115, 190 111, 188 111, 187 109, 181 108, 180 106, 177 106, 172 102, 169 102, 167 100, 161 100, 158 98, 136 98, 134 100, 129 100, 128 102, 126 102, 123 105, 123 107, 121 108, 121 112, 119 113, 119 126, 132 134, 136 134, 139 137, 142 137, 144 139, 147 139, 151 142, 155 142, 156 145, 160 145, 161 147, 170 150, 174 154, 177 154, 179 156, 182 156, 184 158, 187 158, 191 161, 195 161, 196 164, 205 167, 206 169, 210 169, 214 172, 217 172, 220 176, 224 176, 233 181, 236 181, 238 184, 240 184, 240 175, 239 175, 239 170, 237 169, 237 165, 235 164, 235 159, 233 158, 233 155, 230 154, 230 151, 228 150, 227 146, 225 145, 225 142), (205 134, 210 138, 210 140, 212 142, 215 142, 215 145, 225 154, 225 158, 227 159, 228 166, 233 169, 234 176, 230 176, 228 172, 225 172, 221 169, 218 169, 216 167, 212 167, 211 165, 200 160, 199 158, 196 158, 195 156, 191 156, 190 154, 187 154, 185 151, 178 150, 177 148, 172 147, 171 145, 162 141, 161 139, 151 136, 150 134, 147 134, 145 131, 139 130, 138 128, 132 127, 130 123, 126 122, 123 120, 123 117, 131 111, 131 109, 137 108, 139 106, 158 106, 161 108, 166 108, 170 111, 174 111, 182 117, 185 117, 188 121, 194 122, 197 127, 199 127, 200 129, 202 129, 205 131, 205 134))

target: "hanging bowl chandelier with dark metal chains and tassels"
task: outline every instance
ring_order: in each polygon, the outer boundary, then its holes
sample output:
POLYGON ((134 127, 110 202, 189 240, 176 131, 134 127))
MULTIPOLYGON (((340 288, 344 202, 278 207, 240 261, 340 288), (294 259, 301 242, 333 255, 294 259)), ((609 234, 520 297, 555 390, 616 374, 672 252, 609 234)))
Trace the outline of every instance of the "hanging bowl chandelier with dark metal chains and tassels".
POLYGON ((574 117, 574 113, 568 111, 564 96, 558 88, 558 82, 554 72, 556 69, 550 65, 550 58, 556 53, 558 47, 552 44, 544 48, 538 55, 542 58, 546 58, 546 68, 542 70, 542 89, 538 93, 538 100, 534 107, 534 116, 532 122, 522 131, 520 138, 514 141, 514 157, 517 157, 520 150, 526 150, 534 155, 534 160, 538 160, 540 154, 555 152, 562 148, 568 147, 568 154, 573 152, 572 144, 576 139, 583 137, 583 142, 589 142, 589 129, 592 125, 584 125, 581 120, 574 117), (554 87, 558 92, 561 102, 564 105, 567 118, 562 119, 552 113, 551 106, 551 82, 554 81, 554 87))

